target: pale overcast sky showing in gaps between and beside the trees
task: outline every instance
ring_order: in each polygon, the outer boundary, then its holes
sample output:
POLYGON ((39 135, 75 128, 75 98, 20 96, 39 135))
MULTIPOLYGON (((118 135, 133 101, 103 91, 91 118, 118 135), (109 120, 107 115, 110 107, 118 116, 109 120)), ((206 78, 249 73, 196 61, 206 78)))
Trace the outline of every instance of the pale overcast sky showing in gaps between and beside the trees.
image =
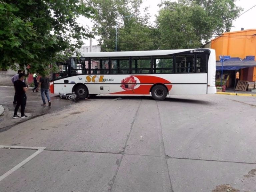
MULTIPOLYGON (((143 8, 146 6, 149 6, 148 10, 151 14, 150 21, 152 24, 154 24, 155 21, 155 15, 158 14, 159 7, 157 4, 159 4, 161 0, 143 0, 142 6, 141 6, 141 14, 143 14, 143 8)), ((237 0, 235 2, 237 6, 242 7, 244 10, 241 12, 245 12, 251 7, 256 5, 255 0, 237 0)), ((235 21, 233 21, 233 27, 231 28, 231 31, 240 31, 243 27, 244 30, 246 29, 256 29, 256 6, 253 7, 251 10, 247 11, 243 15, 241 15, 239 18, 237 18, 235 21)), ((92 24, 88 19, 79 19, 78 20, 82 24, 87 24, 89 26, 89 30, 91 30, 92 24)), ((93 40, 93 45, 97 45, 97 40, 93 40)), ((89 40, 85 40, 85 45, 89 45, 89 40)))

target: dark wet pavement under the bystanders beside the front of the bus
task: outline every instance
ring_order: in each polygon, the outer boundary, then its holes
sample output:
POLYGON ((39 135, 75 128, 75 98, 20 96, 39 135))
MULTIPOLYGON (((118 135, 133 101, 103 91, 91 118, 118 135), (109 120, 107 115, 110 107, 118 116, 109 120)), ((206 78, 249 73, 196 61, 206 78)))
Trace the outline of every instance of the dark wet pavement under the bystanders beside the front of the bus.
MULTIPOLYGON (((59 110, 68 108, 74 103, 74 101, 60 99, 56 94, 50 94, 52 105, 50 107, 41 106, 43 102, 41 99, 40 90, 39 92, 33 92, 32 88, 30 88, 26 92, 26 95, 27 104, 25 108, 25 114, 28 115, 28 118, 13 119, 12 117, 15 109, 15 105, 13 105, 14 87, 0 86, 0 105, 4 107, 4 113, 2 116, 0 116, 0 132, 31 118, 35 118, 47 113, 54 113, 59 110)), ((20 116, 20 108, 18 115, 20 116)))

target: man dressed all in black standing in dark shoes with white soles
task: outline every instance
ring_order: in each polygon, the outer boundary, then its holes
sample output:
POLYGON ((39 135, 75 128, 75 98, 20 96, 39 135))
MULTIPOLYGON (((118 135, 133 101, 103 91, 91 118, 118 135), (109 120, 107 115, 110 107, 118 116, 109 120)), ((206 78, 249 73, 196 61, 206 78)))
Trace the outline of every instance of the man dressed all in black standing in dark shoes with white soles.
POLYGON ((21 106, 20 112, 21 112, 21 118, 27 117, 25 115, 25 106, 27 102, 27 96, 26 91, 28 90, 28 87, 26 87, 26 84, 23 82, 25 79, 25 75, 23 73, 19 74, 19 79, 17 81, 14 81, 14 88, 15 92, 17 94, 17 104, 14 109, 14 115, 13 118, 18 118, 17 112, 19 110, 19 107, 21 106))

